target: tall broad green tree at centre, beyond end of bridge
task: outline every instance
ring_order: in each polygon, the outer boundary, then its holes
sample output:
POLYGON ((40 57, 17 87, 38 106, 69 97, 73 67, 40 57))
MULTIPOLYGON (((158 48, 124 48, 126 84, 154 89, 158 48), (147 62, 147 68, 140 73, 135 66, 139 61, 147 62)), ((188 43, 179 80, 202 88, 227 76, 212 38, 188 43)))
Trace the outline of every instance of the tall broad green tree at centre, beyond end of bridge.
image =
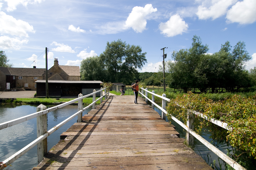
POLYGON ((136 69, 141 69, 147 63, 145 55, 140 46, 126 44, 120 39, 107 42, 105 51, 100 54, 106 71, 105 80, 131 84, 138 75, 136 69))

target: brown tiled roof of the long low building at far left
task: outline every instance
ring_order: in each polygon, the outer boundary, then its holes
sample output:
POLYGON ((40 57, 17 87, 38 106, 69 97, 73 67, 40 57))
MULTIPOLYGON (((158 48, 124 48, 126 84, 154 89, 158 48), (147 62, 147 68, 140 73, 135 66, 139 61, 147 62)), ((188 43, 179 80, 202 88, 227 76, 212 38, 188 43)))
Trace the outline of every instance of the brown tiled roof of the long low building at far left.
POLYGON ((15 76, 42 76, 45 71, 36 68, 8 68, 8 70, 15 76))

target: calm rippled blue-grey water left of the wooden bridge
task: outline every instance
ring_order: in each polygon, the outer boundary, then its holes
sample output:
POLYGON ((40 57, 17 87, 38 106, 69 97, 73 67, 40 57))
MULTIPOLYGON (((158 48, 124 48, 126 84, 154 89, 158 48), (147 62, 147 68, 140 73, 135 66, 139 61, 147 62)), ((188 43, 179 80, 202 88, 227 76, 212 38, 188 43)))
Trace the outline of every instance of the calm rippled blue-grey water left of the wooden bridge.
MULTIPOLYGON (((38 105, 0 105, 0 123, 36 112, 38 105)), ((47 108, 52 107, 47 105, 47 108)), ((85 107, 85 106, 84 106, 85 107)), ((91 108, 83 112, 87 114, 91 108)), ((68 105, 47 114, 47 130, 77 112, 77 106, 68 105)), ((49 151, 60 140, 60 134, 77 122, 77 116, 47 137, 49 151)), ((0 162, 12 156, 36 139, 36 118, 0 130, 0 162)), ((37 146, 15 160, 8 170, 31 170, 37 166, 37 146)))

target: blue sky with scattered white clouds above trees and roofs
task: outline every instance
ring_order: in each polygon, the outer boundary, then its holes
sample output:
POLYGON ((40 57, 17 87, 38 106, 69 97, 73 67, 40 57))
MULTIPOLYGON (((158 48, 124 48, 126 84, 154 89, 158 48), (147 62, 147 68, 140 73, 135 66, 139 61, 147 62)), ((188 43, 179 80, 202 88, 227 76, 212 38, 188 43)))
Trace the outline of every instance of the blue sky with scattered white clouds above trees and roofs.
POLYGON ((139 72, 157 72, 172 51, 190 48, 194 35, 209 53, 244 41, 256 66, 256 0, 0 0, 0 50, 14 67, 80 66, 121 39, 147 52, 139 72))

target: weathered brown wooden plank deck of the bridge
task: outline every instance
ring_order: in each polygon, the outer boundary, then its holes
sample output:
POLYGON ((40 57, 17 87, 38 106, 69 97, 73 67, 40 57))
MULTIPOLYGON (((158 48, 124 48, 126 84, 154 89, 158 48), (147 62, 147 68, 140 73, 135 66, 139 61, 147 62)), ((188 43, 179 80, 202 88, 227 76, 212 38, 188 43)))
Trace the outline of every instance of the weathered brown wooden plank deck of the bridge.
POLYGON ((134 96, 110 96, 61 134, 33 170, 212 170, 172 125, 134 96))

